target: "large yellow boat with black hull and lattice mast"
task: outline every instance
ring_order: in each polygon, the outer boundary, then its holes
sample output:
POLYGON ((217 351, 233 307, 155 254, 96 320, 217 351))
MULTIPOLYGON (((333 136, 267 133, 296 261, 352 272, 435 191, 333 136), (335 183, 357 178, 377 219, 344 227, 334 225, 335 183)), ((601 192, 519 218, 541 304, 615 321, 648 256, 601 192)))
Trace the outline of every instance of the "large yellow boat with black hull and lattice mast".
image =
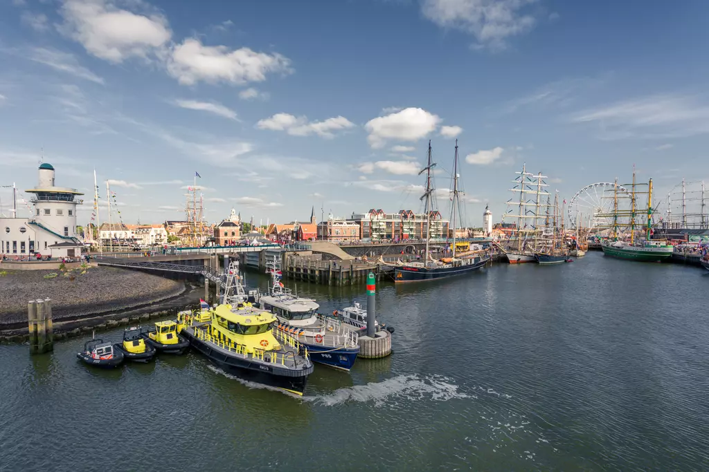
MULTIPOLYGON (((230 265, 227 287, 238 270, 230 265)), ((272 313, 257 309, 225 290, 222 303, 209 311, 208 322, 179 315, 182 333, 196 350, 225 372, 259 384, 303 395, 313 373, 307 347, 278 330, 272 313), (233 303, 233 304, 231 304, 233 303)))

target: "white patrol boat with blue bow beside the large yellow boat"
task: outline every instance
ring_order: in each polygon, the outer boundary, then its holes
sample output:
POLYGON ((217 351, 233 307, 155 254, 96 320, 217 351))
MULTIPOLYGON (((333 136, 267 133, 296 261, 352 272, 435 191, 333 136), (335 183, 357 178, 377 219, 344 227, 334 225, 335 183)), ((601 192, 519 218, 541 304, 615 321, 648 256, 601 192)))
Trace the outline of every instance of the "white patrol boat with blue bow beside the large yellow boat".
POLYGON ((269 292, 252 291, 249 298, 253 297, 258 306, 273 313, 278 320, 277 328, 307 347, 313 362, 350 372, 359 355, 357 333, 345 329, 336 319, 318 315, 320 305, 316 301, 297 297, 284 288, 277 266, 276 258, 268 263, 272 277, 269 292))

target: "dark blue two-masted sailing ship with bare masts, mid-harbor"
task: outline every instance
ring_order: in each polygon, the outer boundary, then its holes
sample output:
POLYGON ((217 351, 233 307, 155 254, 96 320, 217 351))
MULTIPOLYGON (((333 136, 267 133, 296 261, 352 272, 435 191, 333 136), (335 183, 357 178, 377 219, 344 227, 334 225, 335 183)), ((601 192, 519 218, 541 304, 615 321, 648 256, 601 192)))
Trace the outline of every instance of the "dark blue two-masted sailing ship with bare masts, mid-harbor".
POLYGON ((455 243, 455 229, 456 229, 456 214, 459 209, 459 189, 458 189, 458 140, 455 140, 455 157, 453 160, 453 189, 451 190, 451 211, 452 211, 452 226, 453 226, 453 243, 452 243, 452 257, 442 258, 440 260, 430 259, 429 246, 430 246, 430 226, 431 226, 431 213, 434 211, 431 204, 431 195, 435 191, 433 188, 432 179, 432 168, 435 167, 435 163, 432 161, 431 152, 431 142, 428 142, 428 165, 423 168, 418 175, 426 173, 426 190, 420 200, 425 201, 425 215, 426 215, 426 249, 423 262, 421 263, 408 263, 404 265, 399 265, 394 267, 394 282, 418 282, 423 280, 437 280, 445 277, 452 277, 454 275, 463 275, 467 272, 472 272, 480 267, 483 267, 488 261, 489 257, 480 256, 476 251, 466 251, 464 253, 457 254, 456 257, 456 243, 455 243))

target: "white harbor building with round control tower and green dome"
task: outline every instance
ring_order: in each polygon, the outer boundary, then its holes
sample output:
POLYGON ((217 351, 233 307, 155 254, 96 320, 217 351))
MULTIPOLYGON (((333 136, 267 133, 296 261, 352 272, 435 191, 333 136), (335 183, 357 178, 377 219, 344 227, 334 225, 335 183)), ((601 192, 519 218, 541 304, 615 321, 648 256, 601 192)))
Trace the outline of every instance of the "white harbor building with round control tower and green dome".
POLYGON ((11 260, 25 259, 36 253, 52 258, 81 255, 82 243, 77 236, 77 205, 84 195, 75 188, 57 187, 54 167, 43 163, 39 167, 39 181, 35 188, 25 190, 33 194, 33 216, 30 218, 0 218, 0 254, 11 260))

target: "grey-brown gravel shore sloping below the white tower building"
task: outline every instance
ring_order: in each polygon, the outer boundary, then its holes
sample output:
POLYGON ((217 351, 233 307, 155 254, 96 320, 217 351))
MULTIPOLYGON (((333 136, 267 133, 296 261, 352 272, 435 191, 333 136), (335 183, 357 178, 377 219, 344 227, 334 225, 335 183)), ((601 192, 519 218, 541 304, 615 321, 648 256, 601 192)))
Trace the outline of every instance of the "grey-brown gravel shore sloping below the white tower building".
POLYGON ((45 279, 51 270, 8 271, 0 277, 0 329, 27 322, 30 299, 52 299, 52 318, 83 318, 150 304, 184 292, 184 283, 144 272, 91 267, 86 274, 45 279))

